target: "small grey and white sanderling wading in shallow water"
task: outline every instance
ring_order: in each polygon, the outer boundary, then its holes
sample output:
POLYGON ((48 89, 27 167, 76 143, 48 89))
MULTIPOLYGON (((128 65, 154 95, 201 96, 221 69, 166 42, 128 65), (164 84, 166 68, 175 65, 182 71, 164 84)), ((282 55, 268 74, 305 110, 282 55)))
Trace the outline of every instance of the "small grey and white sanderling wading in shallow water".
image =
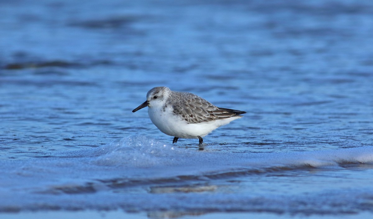
POLYGON ((195 94, 172 91, 168 87, 154 87, 146 94, 146 101, 132 112, 148 106, 151 122, 166 135, 179 138, 203 138, 219 126, 239 119, 246 112, 216 107, 195 94))

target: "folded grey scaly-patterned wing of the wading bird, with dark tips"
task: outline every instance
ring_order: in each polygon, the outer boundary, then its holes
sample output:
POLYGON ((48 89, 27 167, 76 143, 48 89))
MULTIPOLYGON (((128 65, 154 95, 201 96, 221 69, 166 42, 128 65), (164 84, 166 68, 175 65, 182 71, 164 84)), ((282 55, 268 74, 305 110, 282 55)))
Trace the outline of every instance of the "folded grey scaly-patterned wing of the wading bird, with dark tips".
POLYGON ((209 101, 191 93, 175 92, 173 96, 175 98, 169 99, 173 106, 173 113, 181 116, 187 123, 209 122, 246 113, 216 107, 209 101))

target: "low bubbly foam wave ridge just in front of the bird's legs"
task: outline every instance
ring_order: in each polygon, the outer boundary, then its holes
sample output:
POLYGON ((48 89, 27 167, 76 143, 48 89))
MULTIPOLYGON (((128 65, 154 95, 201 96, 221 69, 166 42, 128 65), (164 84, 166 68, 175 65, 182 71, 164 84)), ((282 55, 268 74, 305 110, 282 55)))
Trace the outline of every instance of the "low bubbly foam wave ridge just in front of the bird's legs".
MULTIPOLYGON (((69 152, 70 153, 70 152, 69 152)), ((185 150, 146 136, 130 136, 84 150, 81 157, 95 156, 96 165, 199 166, 200 171, 226 168, 323 168, 344 163, 372 163, 373 147, 289 153, 219 153, 185 150)), ((187 168, 186 168, 187 169, 187 168)))

